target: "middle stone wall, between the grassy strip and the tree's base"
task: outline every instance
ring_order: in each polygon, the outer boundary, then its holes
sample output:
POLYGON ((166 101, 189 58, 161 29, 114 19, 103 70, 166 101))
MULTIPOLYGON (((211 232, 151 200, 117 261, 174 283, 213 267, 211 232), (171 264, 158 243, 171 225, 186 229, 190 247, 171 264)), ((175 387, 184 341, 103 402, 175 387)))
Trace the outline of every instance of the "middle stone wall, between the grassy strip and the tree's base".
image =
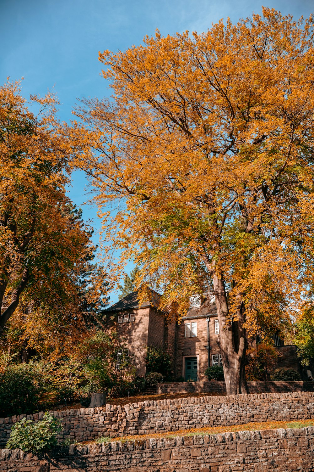
MULTIPOLYGON (((148 400, 124 406, 81 408, 51 412, 60 418, 66 437, 88 441, 99 436, 122 436, 188 428, 229 426, 250 421, 294 421, 314 418, 314 392, 201 396, 175 400, 148 400)), ((43 413, 29 415, 35 421, 43 413)), ((24 415, 22 415, 24 416, 24 415)), ((22 417, 21 416, 21 417, 22 417)), ((21 417, 0 418, 0 446, 5 446, 11 424, 21 417)))

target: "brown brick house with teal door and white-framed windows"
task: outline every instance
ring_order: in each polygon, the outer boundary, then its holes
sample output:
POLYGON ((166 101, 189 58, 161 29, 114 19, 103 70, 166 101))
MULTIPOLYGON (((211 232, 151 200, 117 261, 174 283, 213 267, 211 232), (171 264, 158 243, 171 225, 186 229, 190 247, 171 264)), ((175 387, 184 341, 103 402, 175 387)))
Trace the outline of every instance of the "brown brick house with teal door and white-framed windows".
MULTIPOLYGON (((194 295, 181 323, 167 323, 165 313, 158 309, 159 296, 152 291, 151 302, 139 305, 138 292, 132 292, 106 310, 127 350, 127 353, 118 352, 117 366, 122 356, 130 352, 137 359, 137 375, 144 377, 146 348, 156 346, 169 354, 173 379, 206 380, 204 372, 207 367, 222 366, 217 345, 219 325, 215 302, 210 297, 201 299, 200 295, 194 295)), ((279 356, 269 366, 268 376, 277 367, 289 367, 307 380, 307 369, 300 364, 296 346, 284 346, 278 336, 274 336, 274 345, 279 356)))

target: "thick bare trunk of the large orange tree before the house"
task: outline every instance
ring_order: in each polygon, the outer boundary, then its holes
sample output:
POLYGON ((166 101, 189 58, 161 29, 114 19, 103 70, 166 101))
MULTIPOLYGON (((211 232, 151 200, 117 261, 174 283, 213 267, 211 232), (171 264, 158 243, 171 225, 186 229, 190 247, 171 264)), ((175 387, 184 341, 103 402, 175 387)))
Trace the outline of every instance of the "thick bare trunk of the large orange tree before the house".
POLYGON ((238 321, 228 319, 229 309, 225 282, 222 278, 213 277, 214 293, 219 322, 217 344, 224 367, 227 395, 248 393, 245 379, 246 338, 243 329, 243 313, 239 312, 238 321))

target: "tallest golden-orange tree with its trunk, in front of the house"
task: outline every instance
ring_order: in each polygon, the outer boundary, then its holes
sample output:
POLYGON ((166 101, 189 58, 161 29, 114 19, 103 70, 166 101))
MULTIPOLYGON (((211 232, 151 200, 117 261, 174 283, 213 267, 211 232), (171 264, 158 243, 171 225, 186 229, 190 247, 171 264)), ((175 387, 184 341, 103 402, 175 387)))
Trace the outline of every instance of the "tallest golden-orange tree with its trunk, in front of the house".
POLYGON ((289 329, 313 282, 313 18, 263 8, 206 33, 99 54, 112 100, 84 100, 80 142, 104 239, 177 317, 212 290, 227 394, 248 336, 289 329), (108 207, 118 202, 111 214, 108 207))

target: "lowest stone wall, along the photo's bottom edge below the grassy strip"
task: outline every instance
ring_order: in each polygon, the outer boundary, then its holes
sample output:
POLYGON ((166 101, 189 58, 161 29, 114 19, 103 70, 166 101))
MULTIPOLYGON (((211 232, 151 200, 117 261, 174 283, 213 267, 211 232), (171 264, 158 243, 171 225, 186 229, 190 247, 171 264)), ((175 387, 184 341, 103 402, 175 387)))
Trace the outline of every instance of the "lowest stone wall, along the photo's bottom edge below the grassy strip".
POLYGON ((0 451, 0 472, 313 471, 314 427, 70 446, 39 458, 0 451))

